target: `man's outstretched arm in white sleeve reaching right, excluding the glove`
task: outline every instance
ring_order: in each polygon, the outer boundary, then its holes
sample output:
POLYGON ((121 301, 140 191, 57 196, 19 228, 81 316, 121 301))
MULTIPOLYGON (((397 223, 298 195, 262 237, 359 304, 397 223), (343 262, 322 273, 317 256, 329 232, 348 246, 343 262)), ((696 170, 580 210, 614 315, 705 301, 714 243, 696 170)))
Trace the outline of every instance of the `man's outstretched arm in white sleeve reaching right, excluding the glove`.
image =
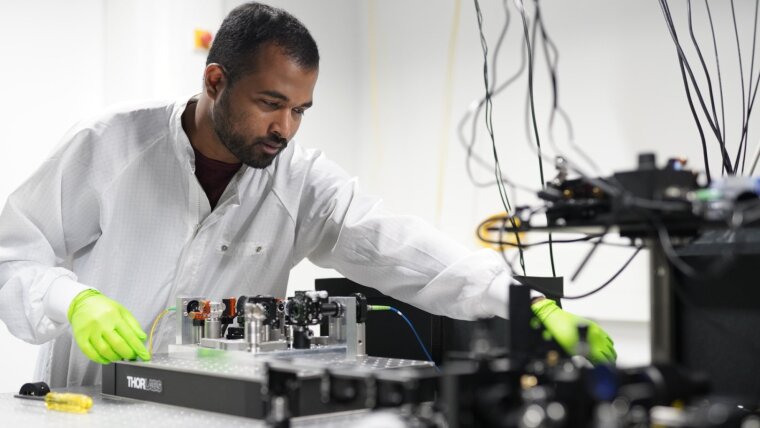
POLYGON ((509 271, 411 216, 394 215, 317 156, 305 179, 296 260, 303 257, 429 312, 458 319, 507 315, 509 271))

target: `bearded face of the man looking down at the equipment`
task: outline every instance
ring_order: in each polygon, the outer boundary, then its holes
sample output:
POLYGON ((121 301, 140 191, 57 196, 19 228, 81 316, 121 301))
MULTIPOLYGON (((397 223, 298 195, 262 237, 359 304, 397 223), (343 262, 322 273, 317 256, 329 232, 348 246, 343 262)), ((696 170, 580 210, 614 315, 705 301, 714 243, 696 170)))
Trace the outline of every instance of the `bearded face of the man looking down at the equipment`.
POLYGON ((240 162, 266 168, 285 148, 311 107, 318 70, 304 70, 275 45, 254 71, 225 86, 211 111, 219 141, 240 162))

